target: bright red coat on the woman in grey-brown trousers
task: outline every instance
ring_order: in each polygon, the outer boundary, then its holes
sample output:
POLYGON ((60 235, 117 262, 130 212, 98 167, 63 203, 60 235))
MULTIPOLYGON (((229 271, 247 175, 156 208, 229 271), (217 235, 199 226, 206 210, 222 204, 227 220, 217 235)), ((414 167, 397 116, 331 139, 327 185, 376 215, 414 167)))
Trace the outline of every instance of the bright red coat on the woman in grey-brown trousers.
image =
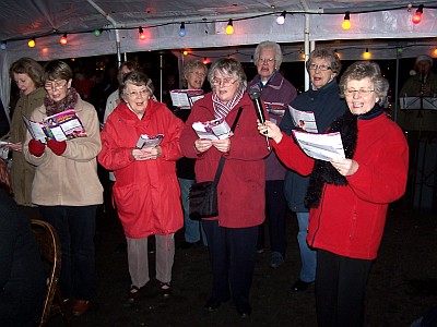
POLYGON ((182 121, 164 104, 152 99, 142 120, 121 102, 105 123, 98 161, 116 177, 113 194, 128 238, 169 234, 184 226, 176 178, 182 126, 182 121), (144 161, 132 158, 140 134, 164 134, 161 157, 144 161))

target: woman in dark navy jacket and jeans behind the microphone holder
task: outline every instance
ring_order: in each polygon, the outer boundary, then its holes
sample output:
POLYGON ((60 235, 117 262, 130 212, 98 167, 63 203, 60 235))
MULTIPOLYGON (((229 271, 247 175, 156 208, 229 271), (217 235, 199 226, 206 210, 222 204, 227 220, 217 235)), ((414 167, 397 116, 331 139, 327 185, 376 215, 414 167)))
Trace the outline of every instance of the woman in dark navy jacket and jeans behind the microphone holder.
MULTIPOLYGON (((298 95, 291 106, 300 111, 312 111, 320 133, 324 132, 331 122, 342 116, 347 109, 346 104, 339 97, 339 86, 335 77, 341 70, 341 62, 336 53, 327 48, 316 48, 309 53, 306 64, 309 73, 310 88, 298 95)), ((296 129, 295 123, 286 110, 280 128, 287 135, 296 129)), ((284 194, 288 207, 296 214, 299 231, 297 243, 300 252, 300 275, 292 286, 295 292, 305 291, 316 279, 316 252, 306 241, 308 230, 309 208, 305 205, 309 179, 287 170, 285 173, 284 194)))

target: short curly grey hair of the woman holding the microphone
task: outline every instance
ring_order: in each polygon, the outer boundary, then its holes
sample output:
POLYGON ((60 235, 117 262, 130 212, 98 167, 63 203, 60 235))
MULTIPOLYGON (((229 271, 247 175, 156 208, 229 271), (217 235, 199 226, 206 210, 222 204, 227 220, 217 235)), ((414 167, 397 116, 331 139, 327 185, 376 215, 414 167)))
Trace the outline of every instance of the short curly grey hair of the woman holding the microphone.
POLYGON ((378 105, 385 104, 389 82, 382 76, 379 65, 373 61, 356 61, 346 69, 340 78, 340 96, 344 97, 349 82, 364 78, 370 78, 374 84, 375 94, 379 98, 378 105))

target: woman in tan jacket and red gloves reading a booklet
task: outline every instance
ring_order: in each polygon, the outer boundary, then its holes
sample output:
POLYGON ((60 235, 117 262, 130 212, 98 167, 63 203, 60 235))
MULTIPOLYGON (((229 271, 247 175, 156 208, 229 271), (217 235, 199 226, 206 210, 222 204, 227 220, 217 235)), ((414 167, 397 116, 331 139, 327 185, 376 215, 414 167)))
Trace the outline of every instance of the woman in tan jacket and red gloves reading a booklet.
POLYGON ((72 77, 66 62, 47 63, 44 72, 47 95, 31 120, 40 122, 48 116, 74 109, 86 137, 68 142, 49 140, 43 144, 27 132, 23 153, 36 167, 32 202, 38 205, 40 218, 55 227, 61 242, 62 296, 76 299, 73 315, 82 315, 96 291, 95 216, 97 205, 103 203, 96 157, 102 145, 96 110, 71 87, 72 77))

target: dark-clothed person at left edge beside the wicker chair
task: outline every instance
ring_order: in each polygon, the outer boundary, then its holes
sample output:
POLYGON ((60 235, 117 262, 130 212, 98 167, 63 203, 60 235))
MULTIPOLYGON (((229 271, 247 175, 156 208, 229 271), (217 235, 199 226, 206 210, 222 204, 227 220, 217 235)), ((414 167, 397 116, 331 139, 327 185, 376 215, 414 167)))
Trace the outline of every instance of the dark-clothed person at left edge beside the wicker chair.
POLYGON ((11 196, 0 159, 0 326, 35 327, 43 311, 46 278, 29 219, 11 196))

